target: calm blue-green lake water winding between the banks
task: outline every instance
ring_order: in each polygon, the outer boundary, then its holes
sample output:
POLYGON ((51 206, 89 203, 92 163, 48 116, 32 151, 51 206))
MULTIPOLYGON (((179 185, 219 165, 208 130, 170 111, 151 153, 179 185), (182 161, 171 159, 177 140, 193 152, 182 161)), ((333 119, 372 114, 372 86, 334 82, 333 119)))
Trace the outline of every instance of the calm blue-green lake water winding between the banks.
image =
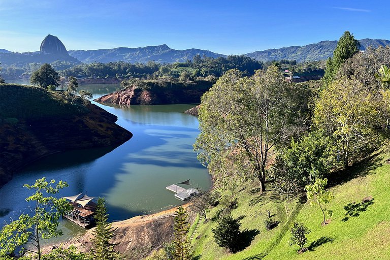
MULTIPOLYGON (((97 98, 120 89, 120 86, 80 85, 79 89, 88 90, 93 98, 97 98)), ((68 182, 70 186, 61 190, 60 196, 87 192, 91 197, 105 197, 112 221, 182 204, 165 188, 170 184, 191 179, 193 184, 203 189, 211 187, 210 175, 192 151, 192 144, 199 134, 198 118, 183 113, 194 105, 94 104, 116 115, 116 123, 132 132, 133 138, 117 148, 53 154, 15 174, 0 189, 1 223, 9 221, 10 217, 17 218, 27 210, 24 200, 30 193, 22 186, 42 177, 68 182)), ((61 228, 65 235, 51 240, 51 243, 84 232, 68 220, 61 221, 61 228)))

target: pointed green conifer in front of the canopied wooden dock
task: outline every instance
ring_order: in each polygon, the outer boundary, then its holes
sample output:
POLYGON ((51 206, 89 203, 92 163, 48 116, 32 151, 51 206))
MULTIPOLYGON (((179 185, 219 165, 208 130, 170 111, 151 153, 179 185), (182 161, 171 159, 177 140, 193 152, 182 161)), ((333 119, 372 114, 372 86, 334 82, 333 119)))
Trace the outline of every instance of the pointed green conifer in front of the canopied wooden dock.
POLYGON ((110 240, 115 236, 116 229, 111 226, 112 223, 107 222, 108 214, 105 202, 104 198, 99 198, 96 205, 94 216, 96 228, 92 231, 91 242, 94 243, 94 246, 91 248, 91 252, 93 259, 113 260, 118 256, 118 252, 114 250, 114 246, 117 244, 110 243, 110 240))

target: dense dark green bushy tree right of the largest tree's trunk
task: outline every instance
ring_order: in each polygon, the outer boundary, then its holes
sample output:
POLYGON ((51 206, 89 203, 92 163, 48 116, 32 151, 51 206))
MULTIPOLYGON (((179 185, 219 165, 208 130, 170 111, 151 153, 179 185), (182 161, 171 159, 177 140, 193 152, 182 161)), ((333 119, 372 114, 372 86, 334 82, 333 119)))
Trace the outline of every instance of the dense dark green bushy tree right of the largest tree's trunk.
POLYGON ((279 194, 297 194, 316 178, 326 177, 337 164, 336 148, 331 137, 313 131, 298 141, 291 140, 272 165, 269 178, 279 194))

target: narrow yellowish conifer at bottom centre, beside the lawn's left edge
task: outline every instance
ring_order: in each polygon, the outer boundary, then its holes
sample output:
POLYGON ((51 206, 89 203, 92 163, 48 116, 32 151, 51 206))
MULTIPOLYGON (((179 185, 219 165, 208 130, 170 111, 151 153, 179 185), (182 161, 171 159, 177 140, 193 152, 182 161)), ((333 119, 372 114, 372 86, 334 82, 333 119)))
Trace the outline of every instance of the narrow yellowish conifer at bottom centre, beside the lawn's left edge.
POLYGON ((175 226, 174 226, 174 234, 175 240, 173 243, 175 244, 175 253, 174 260, 189 260, 192 259, 192 254, 190 252, 189 240, 187 237, 187 233, 189 230, 189 225, 187 221, 186 210, 182 206, 180 206, 176 213, 178 214, 175 217, 175 226))

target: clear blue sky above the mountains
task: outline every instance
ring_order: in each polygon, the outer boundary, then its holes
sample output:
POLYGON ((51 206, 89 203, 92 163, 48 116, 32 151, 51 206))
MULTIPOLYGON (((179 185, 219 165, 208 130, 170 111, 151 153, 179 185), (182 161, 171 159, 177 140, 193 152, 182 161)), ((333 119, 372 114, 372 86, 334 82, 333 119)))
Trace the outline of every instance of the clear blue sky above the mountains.
POLYGON ((47 34, 68 50, 199 48, 223 54, 337 40, 390 39, 390 1, 0 0, 0 48, 37 51, 47 34))

